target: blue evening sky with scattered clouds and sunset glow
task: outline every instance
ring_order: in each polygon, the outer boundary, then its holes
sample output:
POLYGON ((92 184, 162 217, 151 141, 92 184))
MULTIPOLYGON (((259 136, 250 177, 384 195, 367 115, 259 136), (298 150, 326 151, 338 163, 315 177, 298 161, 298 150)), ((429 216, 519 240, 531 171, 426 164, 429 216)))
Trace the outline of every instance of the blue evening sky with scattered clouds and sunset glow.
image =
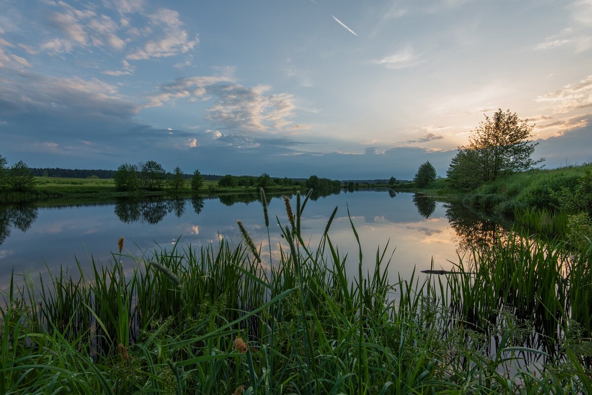
POLYGON ((592 160, 592 0, 0 0, 9 164, 445 176, 498 108, 592 160))

